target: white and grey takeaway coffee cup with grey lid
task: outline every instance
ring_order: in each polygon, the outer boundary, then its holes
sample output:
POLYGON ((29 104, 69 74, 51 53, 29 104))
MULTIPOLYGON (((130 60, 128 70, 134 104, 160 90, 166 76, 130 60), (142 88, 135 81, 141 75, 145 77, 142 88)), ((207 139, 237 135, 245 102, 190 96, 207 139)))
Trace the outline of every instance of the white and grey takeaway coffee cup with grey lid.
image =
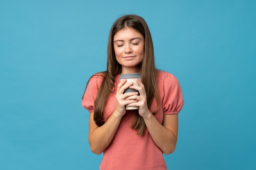
MULTIPOLYGON (((141 75, 139 73, 121 74, 120 81, 122 81, 124 78, 126 78, 126 83, 133 82, 133 85, 138 85, 138 83, 136 81, 137 79, 139 79, 141 81, 141 75)), ((138 92, 138 91, 135 89, 128 88, 124 91, 124 93, 127 93, 127 92, 138 92)), ((125 108, 126 108, 126 110, 139 109, 139 107, 137 107, 137 106, 130 106, 130 107, 126 106, 125 108)))

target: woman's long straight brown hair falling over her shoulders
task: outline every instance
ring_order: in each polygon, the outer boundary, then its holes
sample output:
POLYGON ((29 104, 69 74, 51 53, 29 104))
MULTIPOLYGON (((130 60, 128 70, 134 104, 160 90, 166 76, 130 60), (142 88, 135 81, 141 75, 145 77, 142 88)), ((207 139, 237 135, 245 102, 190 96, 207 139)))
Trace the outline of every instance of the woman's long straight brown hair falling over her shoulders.
MULTIPOLYGON (((115 83, 115 76, 121 74, 122 71, 122 66, 117 62, 115 57, 113 37, 115 33, 117 33, 117 31, 127 27, 134 28, 135 30, 139 31, 139 33, 141 33, 141 35, 143 35, 145 39, 144 57, 139 65, 138 72, 140 72, 142 76, 141 81, 145 86, 148 108, 150 108, 153 99, 155 98, 155 100, 157 101, 157 108, 154 113, 159 110, 159 94, 157 90, 153 41, 148 25, 146 24, 145 20, 138 15, 124 15, 117 19, 112 25, 108 38, 107 71, 101 72, 100 74, 103 76, 103 82, 101 84, 101 87, 99 88, 99 92, 95 100, 94 121, 98 126, 102 126, 105 123, 105 120, 103 118, 105 105, 108 97, 113 92, 112 90, 115 83)), ((136 129, 138 135, 143 135, 144 133, 146 124, 144 122, 144 119, 139 116, 138 112, 135 116, 134 121, 132 122, 131 128, 136 129)))

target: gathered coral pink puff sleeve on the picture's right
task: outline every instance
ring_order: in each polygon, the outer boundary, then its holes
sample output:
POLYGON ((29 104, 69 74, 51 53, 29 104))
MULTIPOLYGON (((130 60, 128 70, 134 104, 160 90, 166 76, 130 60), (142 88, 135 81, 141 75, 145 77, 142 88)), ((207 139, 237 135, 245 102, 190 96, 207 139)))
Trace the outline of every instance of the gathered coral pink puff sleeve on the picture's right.
POLYGON ((180 83, 175 76, 167 73, 162 85, 162 107, 164 114, 177 114, 184 105, 180 83))

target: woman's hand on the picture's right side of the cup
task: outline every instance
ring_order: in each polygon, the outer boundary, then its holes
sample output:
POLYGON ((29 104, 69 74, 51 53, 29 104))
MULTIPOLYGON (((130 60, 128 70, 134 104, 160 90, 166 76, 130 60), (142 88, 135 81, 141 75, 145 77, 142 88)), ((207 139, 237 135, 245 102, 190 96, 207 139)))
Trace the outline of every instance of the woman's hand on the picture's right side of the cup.
POLYGON ((144 87, 144 84, 141 83, 141 81, 139 81, 139 79, 137 79, 137 83, 138 83, 138 86, 132 85, 132 86, 130 86, 130 88, 139 91, 140 95, 139 96, 138 95, 130 96, 130 97, 126 98, 126 100, 138 100, 138 102, 133 102, 126 106, 138 106, 139 107, 139 115, 141 117, 146 117, 146 116, 149 116, 149 114, 151 114, 151 113, 148 109, 147 95, 145 92, 145 87, 144 87))

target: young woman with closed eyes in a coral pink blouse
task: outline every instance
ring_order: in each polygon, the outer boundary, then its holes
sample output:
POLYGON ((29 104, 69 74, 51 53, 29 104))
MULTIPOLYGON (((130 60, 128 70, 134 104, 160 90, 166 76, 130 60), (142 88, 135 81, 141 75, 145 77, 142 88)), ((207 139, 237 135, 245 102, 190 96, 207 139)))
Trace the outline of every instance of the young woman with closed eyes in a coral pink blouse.
POLYGON ((166 169, 163 153, 175 150, 177 113, 183 104, 178 80, 155 68, 145 20, 137 15, 117 19, 108 39, 107 71, 90 78, 82 100, 90 112, 90 149, 98 155, 103 152, 100 169, 166 169), (126 73, 140 73, 141 81, 137 79, 138 85, 126 79, 120 82, 120 75, 126 73), (139 95, 124 93, 128 87, 139 95))

